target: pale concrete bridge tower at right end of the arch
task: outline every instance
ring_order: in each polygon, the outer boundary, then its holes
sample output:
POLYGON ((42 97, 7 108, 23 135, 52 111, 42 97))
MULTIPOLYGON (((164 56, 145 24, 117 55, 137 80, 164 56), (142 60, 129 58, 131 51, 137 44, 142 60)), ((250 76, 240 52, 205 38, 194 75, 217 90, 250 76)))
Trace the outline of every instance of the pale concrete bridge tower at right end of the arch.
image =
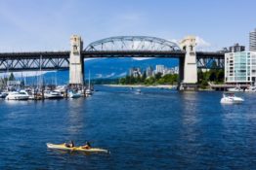
POLYGON ((197 89, 197 66, 195 54, 195 37, 188 36, 180 42, 180 47, 186 51, 184 59, 180 60, 180 89, 197 89))

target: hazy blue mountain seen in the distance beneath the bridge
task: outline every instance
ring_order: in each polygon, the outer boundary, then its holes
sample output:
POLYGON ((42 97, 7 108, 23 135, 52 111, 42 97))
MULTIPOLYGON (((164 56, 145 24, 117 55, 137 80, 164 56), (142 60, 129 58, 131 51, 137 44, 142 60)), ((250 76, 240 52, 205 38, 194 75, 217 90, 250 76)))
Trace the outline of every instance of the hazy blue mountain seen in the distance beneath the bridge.
MULTIPOLYGON (((146 70, 147 67, 162 64, 168 68, 178 66, 178 59, 173 58, 149 58, 138 60, 134 58, 100 58, 85 61, 85 77, 88 79, 88 73, 91 73, 91 79, 116 79, 127 75, 132 67, 140 67, 146 70)), ((68 83, 68 71, 48 72, 43 75, 47 84, 68 83)), ((34 78, 29 78, 28 82, 36 82, 34 78), (32 80, 33 79, 33 80, 32 80)))

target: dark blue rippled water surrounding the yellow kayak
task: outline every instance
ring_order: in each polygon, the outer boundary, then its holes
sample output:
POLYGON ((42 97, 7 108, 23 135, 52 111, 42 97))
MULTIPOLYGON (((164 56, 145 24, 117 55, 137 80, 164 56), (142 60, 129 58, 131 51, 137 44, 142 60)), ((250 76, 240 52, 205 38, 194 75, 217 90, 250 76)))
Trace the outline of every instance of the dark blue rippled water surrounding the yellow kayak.
POLYGON ((97 86, 90 98, 0 101, 0 169, 256 169, 256 95, 97 86), (91 141, 110 154, 46 143, 91 141))

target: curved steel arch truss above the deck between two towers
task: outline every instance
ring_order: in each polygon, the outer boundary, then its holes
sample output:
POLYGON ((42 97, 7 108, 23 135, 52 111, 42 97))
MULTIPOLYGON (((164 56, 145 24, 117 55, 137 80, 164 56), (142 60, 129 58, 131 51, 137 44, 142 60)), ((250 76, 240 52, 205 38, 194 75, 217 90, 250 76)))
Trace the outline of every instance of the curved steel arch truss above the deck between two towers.
POLYGON ((91 43, 85 51, 181 51, 176 43, 147 36, 110 37, 91 43))

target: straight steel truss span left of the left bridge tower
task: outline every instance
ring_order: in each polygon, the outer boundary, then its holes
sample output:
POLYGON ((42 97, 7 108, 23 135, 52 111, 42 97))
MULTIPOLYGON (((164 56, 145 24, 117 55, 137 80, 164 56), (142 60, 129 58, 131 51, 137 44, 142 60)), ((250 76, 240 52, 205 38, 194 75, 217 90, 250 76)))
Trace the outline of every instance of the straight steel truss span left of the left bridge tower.
POLYGON ((69 68, 69 53, 5 53, 0 56, 0 72, 35 70, 65 70, 69 68))

